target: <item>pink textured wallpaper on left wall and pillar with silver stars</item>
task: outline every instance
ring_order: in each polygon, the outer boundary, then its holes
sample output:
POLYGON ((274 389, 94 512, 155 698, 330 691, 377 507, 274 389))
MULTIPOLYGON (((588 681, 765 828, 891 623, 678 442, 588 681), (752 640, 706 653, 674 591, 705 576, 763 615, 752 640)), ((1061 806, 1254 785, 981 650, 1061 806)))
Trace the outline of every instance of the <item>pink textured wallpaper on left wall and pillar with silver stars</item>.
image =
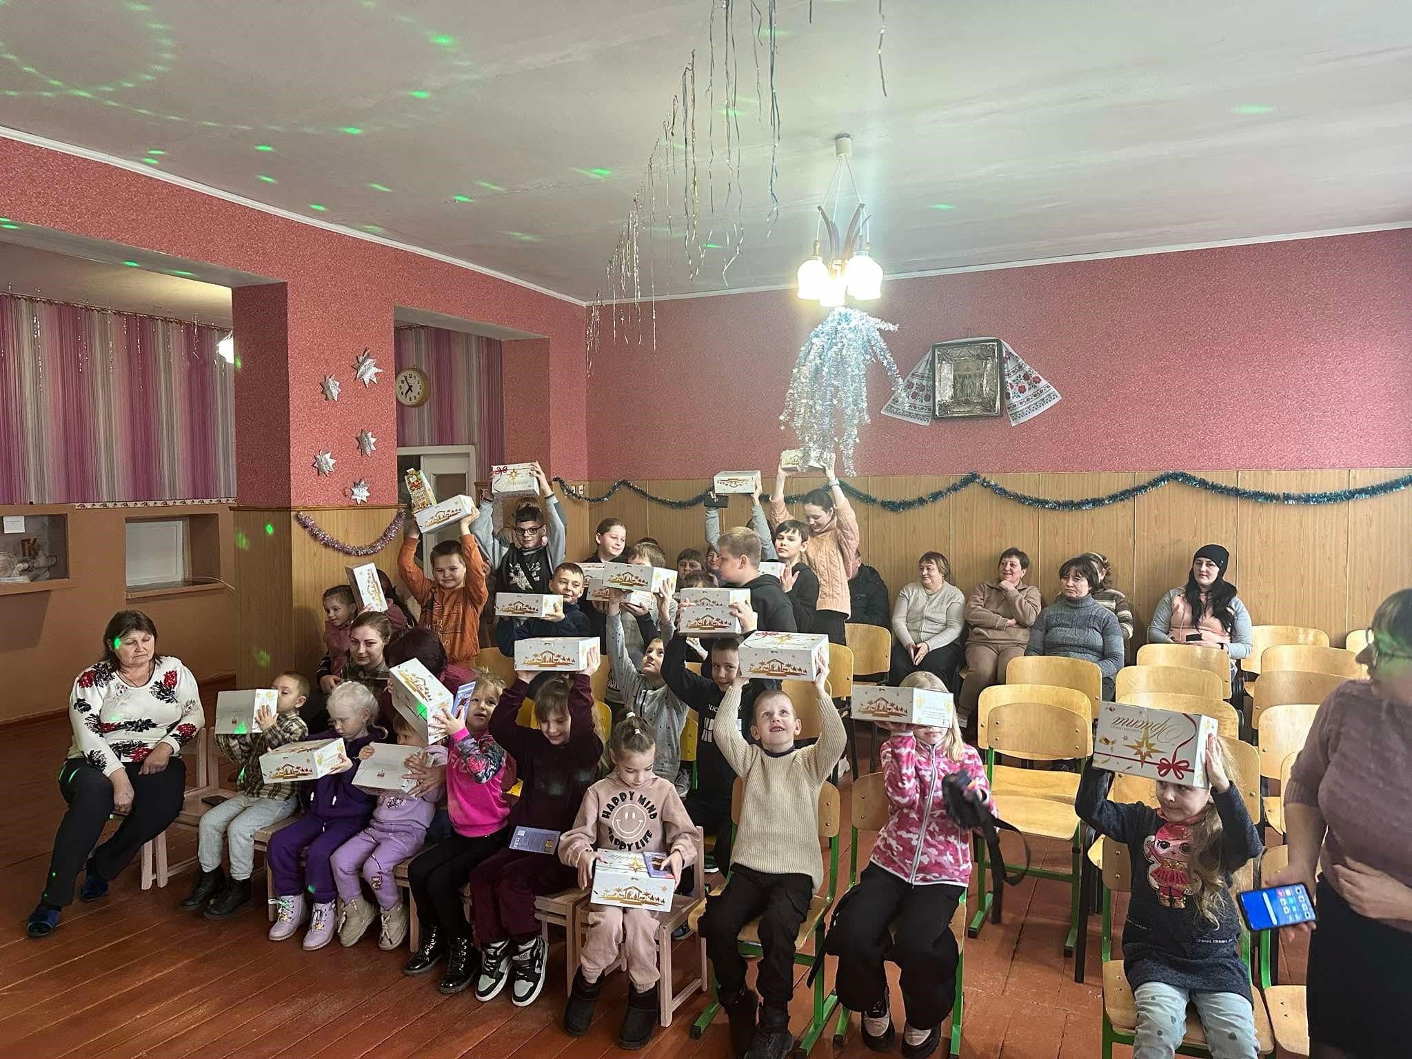
MULTIPOLYGON (((246 505, 347 504, 347 487, 367 479, 374 503, 394 503, 397 417, 393 397, 393 311, 402 305, 466 321, 548 336, 556 376, 583 377, 583 308, 494 277, 418 254, 299 225, 223 199, 102 162, 0 138, 6 215, 140 251, 175 254, 282 281, 288 370, 265 371, 241 353, 246 384, 236 383, 239 500, 246 505), (353 360, 367 347, 384 369, 378 384, 353 381, 353 360), (319 380, 343 384, 337 402, 323 401, 319 380), (287 424, 254 401, 282 401, 287 424), (254 418, 246 421, 247 415, 254 418), (244 421, 244 422, 243 422, 244 421), (377 438, 370 457, 357 455, 363 428, 377 438), (282 431, 282 432, 280 432, 282 431), (319 477, 313 453, 337 459, 319 477), (346 473, 345 473, 346 472, 346 473)), ((278 313, 265 302, 237 302, 237 329, 253 330, 251 347, 267 343, 278 313)), ((277 353, 278 356, 282 356, 277 353)), ((575 385, 582 385, 576 383, 575 385)), ((554 436, 544 428, 559 473, 587 474, 582 404, 562 417, 554 436)))

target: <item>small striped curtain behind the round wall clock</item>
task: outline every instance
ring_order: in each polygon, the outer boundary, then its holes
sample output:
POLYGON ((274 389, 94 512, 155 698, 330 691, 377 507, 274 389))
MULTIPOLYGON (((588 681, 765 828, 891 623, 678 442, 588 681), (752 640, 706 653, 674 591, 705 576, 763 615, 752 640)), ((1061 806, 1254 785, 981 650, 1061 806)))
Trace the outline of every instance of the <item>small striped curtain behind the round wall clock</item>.
POLYGON ((421 408, 397 405, 398 448, 474 445, 476 477, 505 457, 500 342, 443 328, 398 328, 397 370, 418 367, 432 393, 421 408))

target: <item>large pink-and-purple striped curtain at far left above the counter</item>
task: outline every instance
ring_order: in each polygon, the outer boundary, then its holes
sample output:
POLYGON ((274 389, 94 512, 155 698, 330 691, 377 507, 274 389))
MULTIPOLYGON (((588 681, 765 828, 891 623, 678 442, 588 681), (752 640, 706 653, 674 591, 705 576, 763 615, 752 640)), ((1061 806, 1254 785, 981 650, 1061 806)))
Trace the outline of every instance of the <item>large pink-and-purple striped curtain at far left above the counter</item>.
POLYGON ((234 497, 222 336, 0 295, 0 504, 234 497))

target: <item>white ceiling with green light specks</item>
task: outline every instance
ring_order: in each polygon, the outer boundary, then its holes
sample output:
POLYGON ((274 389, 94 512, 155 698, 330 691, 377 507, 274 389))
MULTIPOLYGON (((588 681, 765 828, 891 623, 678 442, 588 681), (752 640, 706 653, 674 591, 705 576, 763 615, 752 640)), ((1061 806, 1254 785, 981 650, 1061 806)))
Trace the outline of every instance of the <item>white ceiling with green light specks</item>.
POLYGON ((726 249, 689 275, 678 151, 671 236, 657 182, 658 294, 789 282, 839 131, 891 274, 1412 222, 1406 0, 884 0, 887 97, 874 0, 818 0, 812 25, 808 0, 781 0, 767 240, 768 97, 761 117, 751 6, 734 7, 729 210, 720 0, 244 0, 239 17, 8 0, 0 124, 137 164, 164 151, 151 168, 578 298, 603 287, 693 49, 700 241, 726 249))

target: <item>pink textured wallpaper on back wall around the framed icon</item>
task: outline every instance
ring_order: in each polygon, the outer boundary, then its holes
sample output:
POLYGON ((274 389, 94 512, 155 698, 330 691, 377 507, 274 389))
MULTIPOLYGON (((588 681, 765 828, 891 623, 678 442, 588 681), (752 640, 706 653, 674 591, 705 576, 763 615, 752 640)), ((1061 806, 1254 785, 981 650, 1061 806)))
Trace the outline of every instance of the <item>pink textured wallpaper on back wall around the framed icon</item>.
MULTIPOLYGON (((912 426, 878 414, 874 366, 863 474, 1412 459, 1412 230, 894 280, 868 309, 898 325, 904 377, 933 342, 998 336, 1063 400, 1019 426, 912 426)), ((778 415, 795 354, 820 319, 794 291, 659 302, 655 352, 592 359, 590 476, 772 467, 794 441, 778 415)))

